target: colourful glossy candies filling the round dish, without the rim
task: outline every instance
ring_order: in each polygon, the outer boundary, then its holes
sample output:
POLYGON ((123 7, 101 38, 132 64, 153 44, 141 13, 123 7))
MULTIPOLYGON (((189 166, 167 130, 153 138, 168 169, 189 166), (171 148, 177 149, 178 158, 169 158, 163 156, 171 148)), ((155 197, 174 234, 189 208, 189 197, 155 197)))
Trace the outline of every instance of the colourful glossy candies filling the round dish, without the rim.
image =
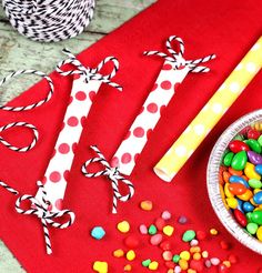
POLYGON ((220 166, 220 190, 238 223, 262 242, 262 133, 245 128, 230 143, 220 166))

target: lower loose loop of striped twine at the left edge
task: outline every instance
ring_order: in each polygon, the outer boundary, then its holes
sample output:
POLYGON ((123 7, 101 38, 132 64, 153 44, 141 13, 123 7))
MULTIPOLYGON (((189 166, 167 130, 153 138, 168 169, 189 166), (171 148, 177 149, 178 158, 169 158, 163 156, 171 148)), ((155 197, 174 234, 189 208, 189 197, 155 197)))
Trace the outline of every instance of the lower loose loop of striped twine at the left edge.
POLYGON ((13 123, 9 123, 4 127, 0 127, 0 132, 3 132, 10 128, 17 128, 17 127, 22 127, 22 128, 28 128, 32 131, 33 133, 33 139, 31 141, 31 143, 27 146, 14 146, 12 144, 10 144, 7 140, 4 140, 4 138, 0 136, 0 143, 2 143, 4 146, 7 146, 8 149, 16 151, 16 152, 28 152, 29 150, 31 150, 38 142, 39 139, 39 133, 38 133, 38 129, 27 122, 13 122, 13 123))

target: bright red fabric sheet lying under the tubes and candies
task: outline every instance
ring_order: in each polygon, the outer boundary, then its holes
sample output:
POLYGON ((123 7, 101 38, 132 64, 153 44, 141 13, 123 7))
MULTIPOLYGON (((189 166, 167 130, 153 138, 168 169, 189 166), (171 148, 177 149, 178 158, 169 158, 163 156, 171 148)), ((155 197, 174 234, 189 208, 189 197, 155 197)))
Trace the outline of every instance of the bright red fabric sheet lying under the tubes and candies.
MULTIPOLYGON (((211 226, 219 229, 221 235, 202 245, 211 255, 220 259, 226 259, 229 253, 236 254, 239 263, 231 267, 231 272, 258 271, 262 265, 261 256, 238 243, 213 213, 206 193, 205 170, 210 151, 223 130, 239 117, 262 105, 261 72, 172 183, 157 178, 152 168, 260 37, 261 14, 260 1, 160 0, 79 55, 89 65, 95 65, 107 55, 115 55, 121 65, 114 81, 122 84, 124 91, 120 93, 103 84, 103 90, 95 98, 78 146, 64 200, 64 208, 75 212, 77 221, 67 230, 50 229, 53 255, 44 253, 40 221, 36 216, 18 214, 14 211, 16 198, 0 190, 0 236, 28 272, 92 272, 94 260, 108 261, 110 272, 122 272, 125 260, 117 260, 111 254, 113 250, 124 247, 124 235, 117 232, 117 222, 127 219, 132 226, 131 233, 138 234, 137 226, 140 223, 150 224, 165 209, 174 216, 172 223, 175 234, 189 228, 205 231, 211 226), (134 198, 128 203, 119 203, 119 213, 112 215, 110 183, 104 178, 83 178, 80 166, 93 155, 89 150, 90 144, 98 144, 105 156, 111 159, 162 65, 160 59, 143 57, 142 52, 164 50, 164 41, 171 34, 184 40, 185 58, 193 59, 214 52, 218 59, 208 64, 210 73, 191 73, 180 85, 130 178, 135 185, 134 198), (139 202, 144 199, 154 202, 152 212, 139 209, 139 202), (181 214, 190 219, 185 226, 175 223, 181 214), (89 233, 94 225, 105 229, 107 236, 102 241, 91 239, 89 233), (232 243, 231 251, 221 251, 219 242, 222 239, 232 243)), ((43 175, 48 165, 69 100, 72 79, 57 73, 52 74, 52 79, 56 93, 50 103, 22 113, 0 112, 1 125, 19 120, 33 123, 40 131, 39 143, 28 153, 18 154, 0 145, 0 179, 21 193, 36 193, 36 181, 43 175)), ((11 104, 37 101, 46 92, 47 84, 40 82, 11 104)), ((6 134, 16 143, 23 142, 22 135, 30 136, 26 131, 21 131, 21 134, 18 131, 6 134)), ((137 251, 137 260, 132 262, 133 272, 148 272, 141 266, 141 261, 161 261, 161 251, 150 246, 148 237, 139 237, 142 246, 137 251)), ((179 236, 171 241, 175 253, 185 249, 179 236)), ((158 272, 165 272, 162 261, 158 272)))

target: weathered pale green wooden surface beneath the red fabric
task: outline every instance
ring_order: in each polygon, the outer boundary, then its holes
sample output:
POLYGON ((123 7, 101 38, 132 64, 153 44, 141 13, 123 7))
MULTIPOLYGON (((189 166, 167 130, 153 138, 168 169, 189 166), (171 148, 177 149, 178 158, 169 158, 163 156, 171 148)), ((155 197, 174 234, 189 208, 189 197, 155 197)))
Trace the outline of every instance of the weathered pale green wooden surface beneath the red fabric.
MULTIPOLYGON (((77 38, 57 43, 34 42, 20 36, 10 26, 0 4, 0 79, 19 69, 37 69, 49 73, 64 59, 61 52, 64 47, 77 54, 153 2, 155 0, 97 0, 89 28, 77 38)), ((0 103, 8 102, 38 80, 39 78, 31 75, 21 77, 1 87, 0 103)), ((0 272, 24 272, 2 241, 0 272)))

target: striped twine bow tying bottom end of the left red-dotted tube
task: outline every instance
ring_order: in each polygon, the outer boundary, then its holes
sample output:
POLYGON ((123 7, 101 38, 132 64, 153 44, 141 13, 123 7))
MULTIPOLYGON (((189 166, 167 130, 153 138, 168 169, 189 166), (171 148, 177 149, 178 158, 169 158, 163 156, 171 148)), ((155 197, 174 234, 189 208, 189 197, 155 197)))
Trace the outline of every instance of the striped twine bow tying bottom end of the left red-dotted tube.
MULTIPOLYGON (((19 194, 18 191, 16 191, 13 188, 9 186, 8 184, 6 184, 2 181, 0 181, 0 185, 3 189, 6 189, 7 191, 9 191, 12 194, 14 194, 14 195, 19 194)), ((32 215, 38 216, 41 220, 41 223, 42 223, 42 226, 43 226, 43 234, 44 234, 47 253, 51 254, 52 253, 52 246, 51 246, 48 225, 51 225, 51 226, 57 228, 57 229, 67 229, 67 228, 69 228, 70 225, 73 224, 75 215, 70 210, 63 210, 63 211, 60 211, 60 212, 50 212, 48 210, 49 202, 46 199, 47 198, 47 192, 44 191, 43 184, 40 181, 38 181, 37 185, 38 185, 39 190, 42 193, 42 202, 38 201, 32 195, 24 194, 24 195, 21 195, 17 200, 16 210, 20 214, 26 214, 26 215, 32 214, 32 215), (33 208, 33 209, 29 209, 29 210, 22 209, 21 204, 22 204, 23 201, 30 201, 31 202, 31 208, 33 208), (56 222, 56 219, 62 218, 64 215, 69 215, 69 220, 67 222, 63 222, 63 223, 56 222)))

